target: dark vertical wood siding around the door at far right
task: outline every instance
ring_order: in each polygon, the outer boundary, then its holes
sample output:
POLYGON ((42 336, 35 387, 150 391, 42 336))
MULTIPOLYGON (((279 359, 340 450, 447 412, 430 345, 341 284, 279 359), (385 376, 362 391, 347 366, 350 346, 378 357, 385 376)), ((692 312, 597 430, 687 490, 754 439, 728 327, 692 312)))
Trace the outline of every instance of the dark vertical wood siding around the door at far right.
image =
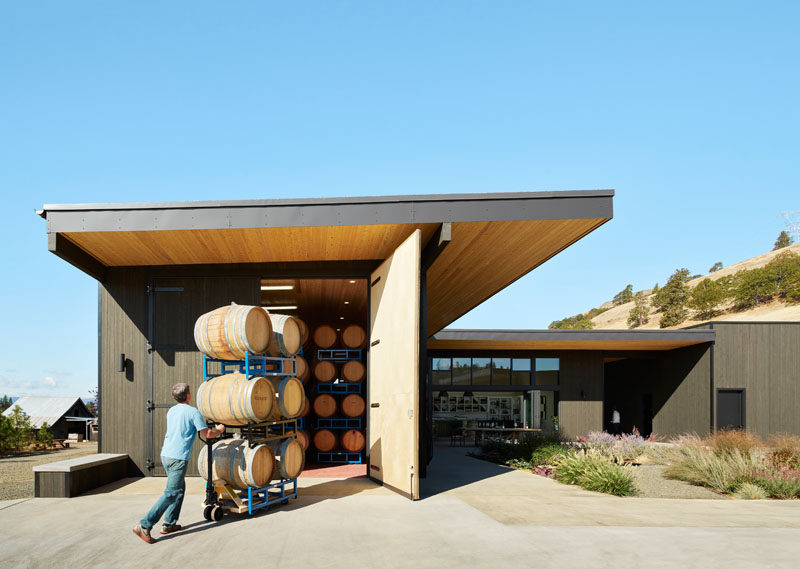
POLYGON ((746 390, 747 429, 800 433, 800 323, 715 322, 714 330, 715 389, 746 390))

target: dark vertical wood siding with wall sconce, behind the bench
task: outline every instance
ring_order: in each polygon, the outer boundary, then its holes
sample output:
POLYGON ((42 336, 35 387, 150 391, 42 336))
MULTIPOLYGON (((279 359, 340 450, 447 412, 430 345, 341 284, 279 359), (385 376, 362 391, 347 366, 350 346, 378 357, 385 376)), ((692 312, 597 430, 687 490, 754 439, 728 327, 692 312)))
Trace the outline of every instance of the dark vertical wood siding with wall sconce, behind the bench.
POLYGON ((100 287, 100 429, 103 452, 127 453, 146 472, 147 295, 144 269, 109 269, 100 287), (117 372, 118 354, 130 360, 117 372))

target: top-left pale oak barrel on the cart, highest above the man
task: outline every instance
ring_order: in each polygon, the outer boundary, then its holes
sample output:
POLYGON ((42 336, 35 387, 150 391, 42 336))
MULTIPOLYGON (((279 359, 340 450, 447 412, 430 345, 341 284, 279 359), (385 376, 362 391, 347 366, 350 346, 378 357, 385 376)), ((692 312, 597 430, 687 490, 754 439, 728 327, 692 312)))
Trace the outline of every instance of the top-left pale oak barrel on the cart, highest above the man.
POLYGON ((258 306, 231 304, 207 312, 194 323, 197 349, 211 358, 242 360, 270 343, 272 325, 258 306))

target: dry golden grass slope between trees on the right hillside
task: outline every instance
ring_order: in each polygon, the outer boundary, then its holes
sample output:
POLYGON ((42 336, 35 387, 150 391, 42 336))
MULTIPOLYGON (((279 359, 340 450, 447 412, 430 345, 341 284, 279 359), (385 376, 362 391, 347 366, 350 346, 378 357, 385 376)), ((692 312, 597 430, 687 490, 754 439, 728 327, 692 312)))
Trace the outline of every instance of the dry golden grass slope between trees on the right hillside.
MULTIPOLYGON (((792 245, 790 247, 784 247, 783 249, 779 249, 777 251, 770 251, 769 253, 764 253, 763 255, 758 255, 757 257, 753 257, 751 259, 747 259, 736 263, 734 265, 730 265, 729 267, 725 267, 724 269, 720 269, 719 271, 709 273, 707 275, 703 275, 702 277, 698 277, 696 279, 692 279, 689 281, 690 287, 695 287, 697 284, 702 281, 703 279, 709 278, 712 280, 716 280, 720 277, 724 277, 727 275, 736 274, 738 271, 745 270, 745 269, 755 269, 758 267, 763 267, 767 263, 769 263, 776 255, 783 253, 785 251, 791 251, 796 254, 800 254, 800 243, 792 245)), ((649 292, 649 291, 645 291, 649 292)), ((650 294, 647 297, 648 303, 652 304, 653 295, 650 294)), ((619 306, 614 306, 611 302, 606 302, 600 308, 607 308, 611 307, 606 312, 602 314, 598 314, 594 318, 592 318, 592 322, 594 322, 596 330, 608 330, 608 329, 627 329, 627 320, 628 320, 628 313, 633 308, 633 302, 626 302, 625 304, 620 304, 619 306)), ((719 316, 715 316, 714 320, 740 320, 740 321, 800 321, 800 304, 786 304, 781 302, 780 300, 774 300, 769 304, 764 304, 761 306, 757 306, 751 310, 743 310, 743 311, 732 311, 730 306, 722 305, 721 308, 723 309, 722 313, 719 316)), ((657 329, 658 320, 660 318, 660 314, 650 309, 650 321, 645 324, 644 326, 639 326, 637 330, 643 329, 657 329)), ((703 320, 696 320, 690 317, 689 320, 681 322, 678 326, 674 326, 673 328, 685 328, 686 326, 691 326, 693 324, 700 324, 704 322, 703 320)))

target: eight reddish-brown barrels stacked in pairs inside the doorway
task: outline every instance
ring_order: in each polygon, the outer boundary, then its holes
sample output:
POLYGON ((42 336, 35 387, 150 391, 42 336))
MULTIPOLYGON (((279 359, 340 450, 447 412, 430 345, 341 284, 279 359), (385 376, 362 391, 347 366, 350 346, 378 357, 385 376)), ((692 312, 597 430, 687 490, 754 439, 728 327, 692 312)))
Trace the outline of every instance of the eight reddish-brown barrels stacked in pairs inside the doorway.
POLYGON ((311 364, 311 375, 314 383, 307 384, 308 396, 311 400, 311 412, 317 418, 311 445, 318 453, 348 452, 360 453, 366 446, 364 437, 364 421, 360 429, 328 429, 319 426, 319 419, 363 419, 366 413, 366 402, 358 393, 319 393, 320 384, 360 384, 367 377, 367 370, 360 359, 360 350, 366 346, 367 335, 364 328, 351 324, 341 332, 329 324, 321 324, 314 328, 311 341, 316 348, 317 358, 311 364), (347 361, 331 361, 320 359, 320 350, 359 350, 358 359, 347 361))

